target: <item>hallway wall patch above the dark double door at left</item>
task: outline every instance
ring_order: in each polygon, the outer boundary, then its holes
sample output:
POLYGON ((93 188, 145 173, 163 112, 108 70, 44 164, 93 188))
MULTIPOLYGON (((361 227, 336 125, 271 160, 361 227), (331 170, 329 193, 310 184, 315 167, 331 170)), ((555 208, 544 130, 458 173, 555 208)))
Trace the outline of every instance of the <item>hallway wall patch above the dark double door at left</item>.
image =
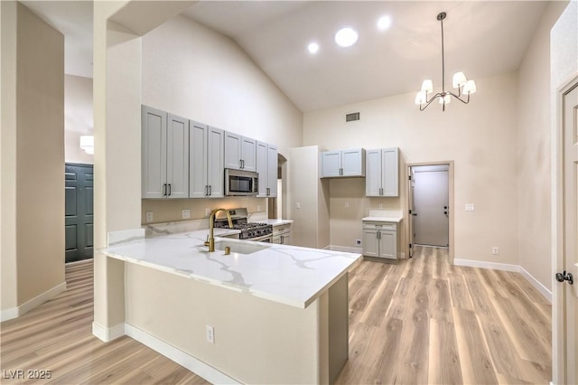
POLYGON ((80 136, 93 135, 92 79, 64 76, 64 159, 93 164, 94 156, 80 148, 80 136))

